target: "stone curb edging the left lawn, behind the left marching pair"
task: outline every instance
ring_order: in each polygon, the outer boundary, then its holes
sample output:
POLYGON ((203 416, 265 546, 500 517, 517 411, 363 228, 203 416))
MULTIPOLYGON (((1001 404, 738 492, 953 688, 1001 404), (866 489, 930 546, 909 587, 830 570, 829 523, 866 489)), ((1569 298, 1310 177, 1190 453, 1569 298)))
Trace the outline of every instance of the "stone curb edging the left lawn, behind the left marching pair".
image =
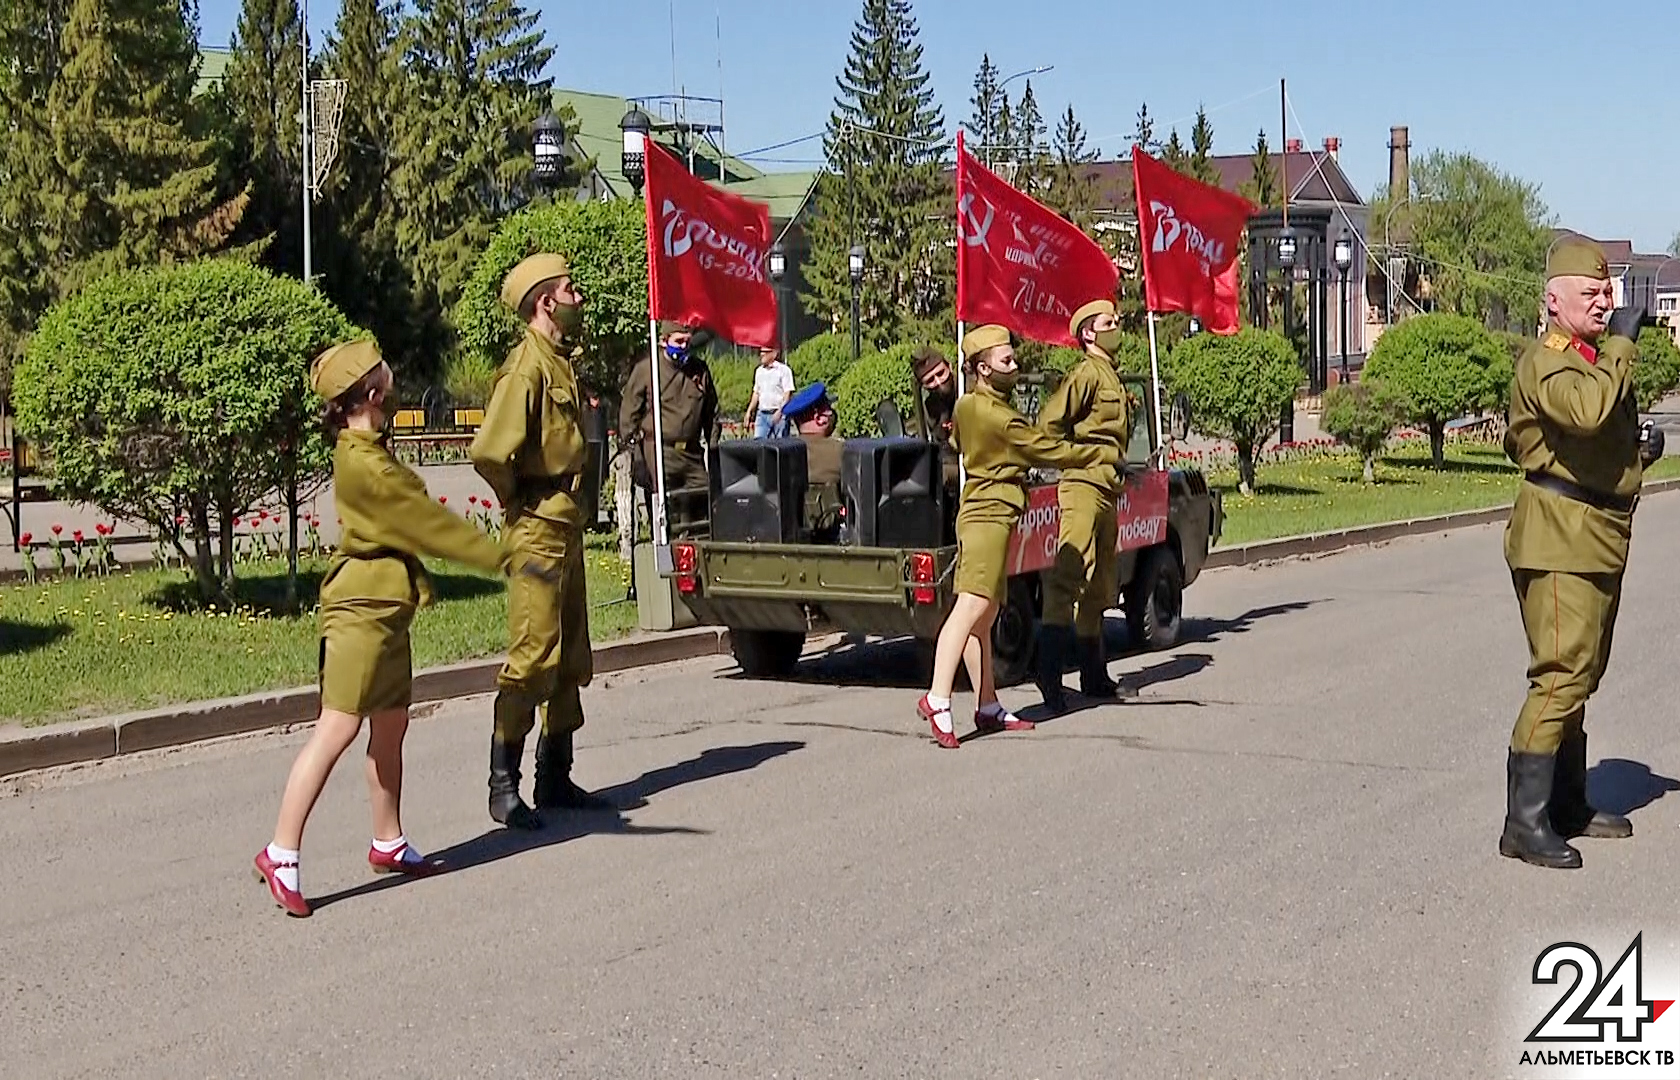
MULTIPOLYGON (((595 675, 628 672, 729 652, 729 632, 697 627, 595 647, 595 675)), ((442 702, 496 689, 502 658, 465 660, 415 672, 413 704, 442 702)), ((316 687, 264 690, 242 697, 166 705, 50 727, 0 727, 0 776, 121 758, 227 736, 307 724, 321 710, 316 687)))

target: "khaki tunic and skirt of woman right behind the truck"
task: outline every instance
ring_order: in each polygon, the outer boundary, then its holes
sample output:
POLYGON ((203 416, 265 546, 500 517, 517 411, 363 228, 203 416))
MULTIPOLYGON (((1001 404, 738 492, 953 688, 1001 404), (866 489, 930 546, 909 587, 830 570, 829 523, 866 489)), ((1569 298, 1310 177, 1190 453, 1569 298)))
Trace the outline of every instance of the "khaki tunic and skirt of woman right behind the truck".
POLYGON ((956 591, 986 600, 1003 598, 1010 532, 1026 509, 1026 470, 1092 469, 1121 460, 1114 447, 1077 447, 1033 427, 984 383, 958 400, 951 445, 968 469, 956 514, 956 591))

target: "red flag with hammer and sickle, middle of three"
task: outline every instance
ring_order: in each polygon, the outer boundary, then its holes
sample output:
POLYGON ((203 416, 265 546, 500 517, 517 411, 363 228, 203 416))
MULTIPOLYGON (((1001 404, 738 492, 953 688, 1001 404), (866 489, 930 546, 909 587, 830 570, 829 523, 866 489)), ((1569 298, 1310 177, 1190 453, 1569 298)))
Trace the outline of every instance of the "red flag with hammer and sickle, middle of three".
POLYGON ((1055 210, 1016 191, 956 136, 956 317, 996 322, 1021 338, 1077 344, 1067 321, 1112 299, 1121 270, 1055 210))

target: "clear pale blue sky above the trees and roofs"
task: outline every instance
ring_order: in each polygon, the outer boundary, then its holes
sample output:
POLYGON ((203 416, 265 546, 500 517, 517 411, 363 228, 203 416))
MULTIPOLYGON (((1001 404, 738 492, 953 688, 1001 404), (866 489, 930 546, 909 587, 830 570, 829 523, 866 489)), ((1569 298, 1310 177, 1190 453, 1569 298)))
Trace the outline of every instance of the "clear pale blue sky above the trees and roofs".
MULTIPOLYGON (((724 97, 731 151, 822 129, 858 0, 531 2, 558 49, 556 84, 622 96, 724 97), (610 10, 612 15, 596 12, 610 10), (675 66, 672 62, 675 12, 675 66), (719 76, 719 27, 722 74, 719 76), (630 34, 640 34, 632 39, 630 34), (721 87, 721 94, 719 94, 721 87)), ((200 0, 207 44, 225 45, 239 0, 200 0)), ((338 0, 309 0, 316 47, 338 0)), ((924 64, 951 131, 968 118, 981 54, 1033 76, 1045 114, 1074 106, 1112 156, 1139 102, 1158 131, 1189 133, 1206 104, 1216 153, 1245 153, 1260 128, 1277 148, 1278 79, 1289 134, 1342 141, 1342 168, 1369 197, 1388 176, 1388 129, 1413 156, 1465 149, 1541 185, 1561 225, 1662 250, 1680 230, 1680 69, 1673 0, 916 0, 924 64)), ((1010 86, 1018 96, 1025 81, 1010 86)), ((810 168, 806 143, 759 160, 810 168)))

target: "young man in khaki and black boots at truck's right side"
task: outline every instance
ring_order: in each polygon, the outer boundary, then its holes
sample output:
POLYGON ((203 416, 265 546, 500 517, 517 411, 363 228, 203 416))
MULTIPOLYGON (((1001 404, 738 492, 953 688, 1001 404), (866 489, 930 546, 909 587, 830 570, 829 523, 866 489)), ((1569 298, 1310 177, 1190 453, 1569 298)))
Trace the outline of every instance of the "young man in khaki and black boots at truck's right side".
MULTIPOLYGON (((1065 442, 1114 447, 1124 462, 1132 415, 1126 385, 1114 366, 1121 339, 1114 302, 1085 304, 1074 312, 1068 326, 1085 358, 1045 400, 1038 423, 1065 442)), ((1055 564, 1045 574, 1043 633, 1038 637, 1038 690, 1052 712, 1067 710, 1062 670, 1075 637, 1080 692, 1109 699, 1137 694, 1109 679, 1102 643, 1102 613, 1114 605, 1121 585, 1116 511, 1124 477, 1124 465, 1105 462, 1065 470, 1057 485, 1062 543, 1055 564)))

